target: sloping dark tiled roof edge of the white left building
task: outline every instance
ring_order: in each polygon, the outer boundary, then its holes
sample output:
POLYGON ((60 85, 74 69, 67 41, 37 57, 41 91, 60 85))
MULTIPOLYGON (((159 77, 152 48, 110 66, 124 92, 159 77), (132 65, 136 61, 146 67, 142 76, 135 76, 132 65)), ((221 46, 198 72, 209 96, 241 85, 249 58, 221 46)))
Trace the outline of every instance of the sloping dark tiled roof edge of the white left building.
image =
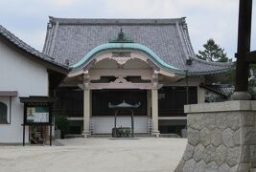
POLYGON ((20 40, 12 32, 9 32, 7 29, 5 29, 1 25, 0 25, 0 35, 8 39, 10 42, 12 42, 12 44, 14 44, 19 49, 25 51, 26 53, 34 55, 35 58, 40 58, 41 60, 50 62, 51 64, 54 64, 60 68, 63 68, 64 70, 68 69, 66 65, 56 62, 54 57, 47 54, 42 54, 36 51, 34 48, 32 48, 31 46, 29 46, 28 44, 20 40))

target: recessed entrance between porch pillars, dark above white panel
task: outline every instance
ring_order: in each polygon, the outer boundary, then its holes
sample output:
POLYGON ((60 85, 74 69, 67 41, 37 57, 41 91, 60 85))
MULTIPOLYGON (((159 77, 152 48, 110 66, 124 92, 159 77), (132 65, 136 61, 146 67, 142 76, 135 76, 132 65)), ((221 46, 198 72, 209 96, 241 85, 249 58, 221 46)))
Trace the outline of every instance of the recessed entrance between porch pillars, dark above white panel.
MULTIPOLYGON (((108 103, 119 104, 124 100, 129 104, 140 102, 134 109, 134 133, 149 133, 147 90, 93 90, 92 91, 91 134, 110 134, 114 127, 115 110, 108 103)), ((130 112, 120 111, 116 120, 117 127, 131 127, 130 112)))

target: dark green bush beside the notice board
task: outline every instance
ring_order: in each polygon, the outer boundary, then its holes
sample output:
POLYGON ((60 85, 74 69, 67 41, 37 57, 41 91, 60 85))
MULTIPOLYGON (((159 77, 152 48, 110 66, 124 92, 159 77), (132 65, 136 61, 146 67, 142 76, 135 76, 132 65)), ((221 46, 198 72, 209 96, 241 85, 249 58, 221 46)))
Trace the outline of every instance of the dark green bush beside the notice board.
POLYGON ((66 134, 69 133, 70 124, 66 117, 56 116, 55 124, 58 130, 61 132, 61 138, 63 139, 66 134))

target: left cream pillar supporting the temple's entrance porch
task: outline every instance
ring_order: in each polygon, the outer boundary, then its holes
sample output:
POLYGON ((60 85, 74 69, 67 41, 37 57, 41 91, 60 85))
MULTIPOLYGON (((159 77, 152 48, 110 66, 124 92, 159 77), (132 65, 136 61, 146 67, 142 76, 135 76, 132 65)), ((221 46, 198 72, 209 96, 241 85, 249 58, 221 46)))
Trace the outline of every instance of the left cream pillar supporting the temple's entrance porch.
POLYGON ((83 90, 83 135, 84 138, 90 134, 90 112, 91 112, 91 91, 89 89, 83 90))

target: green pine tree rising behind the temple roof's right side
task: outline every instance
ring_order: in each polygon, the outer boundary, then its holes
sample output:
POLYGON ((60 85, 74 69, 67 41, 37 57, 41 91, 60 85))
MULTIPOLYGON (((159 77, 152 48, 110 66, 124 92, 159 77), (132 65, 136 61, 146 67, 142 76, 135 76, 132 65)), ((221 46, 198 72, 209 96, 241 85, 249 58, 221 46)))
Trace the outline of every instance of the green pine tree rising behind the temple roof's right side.
POLYGON ((227 55, 224 53, 224 49, 222 49, 218 44, 216 44, 213 39, 207 40, 207 42, 202 46, 204 50, 198 51, 198 58, 206 61, 217 62, 232 61, 232 59, 229 59, 227 55))

